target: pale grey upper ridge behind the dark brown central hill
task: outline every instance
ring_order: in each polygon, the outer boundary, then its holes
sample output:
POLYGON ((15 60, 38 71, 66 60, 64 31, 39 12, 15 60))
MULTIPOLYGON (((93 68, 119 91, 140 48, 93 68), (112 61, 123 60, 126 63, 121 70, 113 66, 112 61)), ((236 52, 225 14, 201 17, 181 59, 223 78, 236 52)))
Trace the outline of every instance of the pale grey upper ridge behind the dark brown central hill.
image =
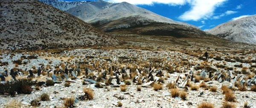
POLYGON ((47 3, 62 11, 72 14, 85 22, 92 23, 102 21, 102 19, 116 20, 123 17, 129 17, 134 15, 148 15, 146 17, 155 19, 156 22, 167 22, 173 24, 189 25, 184 22, 177 22, 172 19, 160 16, 144 8, 140 8, 130 3, 110 3, 104 0, 97 1, 73 1, 67 2, 62 0, 39 0, 43 3, 47 3))

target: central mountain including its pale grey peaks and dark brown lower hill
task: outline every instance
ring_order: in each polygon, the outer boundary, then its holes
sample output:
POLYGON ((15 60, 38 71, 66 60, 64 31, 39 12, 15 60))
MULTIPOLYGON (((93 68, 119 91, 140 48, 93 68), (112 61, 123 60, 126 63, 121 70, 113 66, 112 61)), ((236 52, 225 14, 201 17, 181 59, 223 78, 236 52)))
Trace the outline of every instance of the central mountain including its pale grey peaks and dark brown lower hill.
POLYGON ((67 5, 77 2, 39 1, 66 11, 105 32, 174 37, 207 35, 204 31, 193 25, 174 21, 126 2, 109 3, 97 0, 93 2, 79 2, 80 4, 77 4, 75 7, 69 8, 67 5), (61 7, 60 4, 62 4, 61 7))

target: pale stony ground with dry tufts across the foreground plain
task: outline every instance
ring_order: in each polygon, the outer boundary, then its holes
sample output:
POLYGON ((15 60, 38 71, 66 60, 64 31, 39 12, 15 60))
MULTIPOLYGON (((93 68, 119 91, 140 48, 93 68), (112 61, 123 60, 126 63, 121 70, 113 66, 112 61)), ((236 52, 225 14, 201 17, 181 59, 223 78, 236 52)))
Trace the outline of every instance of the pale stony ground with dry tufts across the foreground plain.
MULTIPOLYGON (((134 47, 135 48, 135 47, 134 47)), ((222 94, 221 86, 232 86, 233 93, 235 95, 235 102, 231 102, 236 105, 236 108, 244 108, 244 104, 250 108, 256 108, 256 94, 251 91, 251 86, 246 86, 245 91, 240 91, 233 82, 236 76, 244 76, 238 79, 238 83, 244 78, 249 79, 249 76, 255 75, 255 56, 252 51, 241 52, 240 50, 233 50, 232 52, 244 53, 244 55, 234 55, 229 50, 226 52, 215 53, 216 49, 208 49, 209 59, 205 60, 202 54, 207 49, 201 49, 197 51, 191 51, 186 53, 182 51, 169 51, 169 50, 140 50, 140 49, 74 49, 63 51, 45 51, 45 52, 3 52, 0 55, 1 60, 1 73, 5 69, 20 69, 23 72, 23 76, 17 77, 17 79, 26 78, 28 70, 35 71, 37 68, 43 66, 42 75, 32 80, 34 81, 46 81, 47 72, 51 70, 64 69, 67 66, 68 69, 80 66, 81 74, 78 79, 69 78, 68 80, 74 81, 70 83, 69 87, 65 87, 65 80, 61 83, 55 83, 54 86, 42 85, 40 90, 35 90, 36 86, 32 86, 31 94, 16 94, 11 97, 7 94, 0 95, 0 107, 7 107, 9 102, 17 100, 21 102, 22 108, 32 107, 30 102, 32 100, 40 100, 41 94, 48 94, 49 101, 40 101, 39 108, 54 108, 64 107, 64 99, 67 97, 81 97, 84 95, 84 88, 92 88, 94 92, 93 100, 80 100, 74 104, 77 108, 109 108, 117 107, 118 102, 122 103, 123 108, 196 108, 201 102, 211 102, 215 105, 215 108, 221 108, 222 103, 226 102, 225 95, 222 94), (220 57, 220 58, 218 58, 220 57), (238 58, 235 58, 238 57, 238 58), (222 58, 222 59, 221 59, 222 58), (17 61, 21 61, 19 62, 17 61), (16 61, 16 62, 15 62, 16 61), (6 62, 8 63, 6 65, 6 62), (5 65, 3 64, 5 63, 5 65), (3 65, 2 65, 3 64, 3 65), (241 66, 240 66, 241 65, 241 66), (110 68, 112 67, 112 68, 110 68), (209 68, 210 67, 210 68, 209 68), (105 79, 113 78, 113 85, 106 85, 104 80, 98 80, 103 88, 96 88, 95 83, 86 82, 82 84, 84 78, 88 78, 86 70, 90 69, 97 80, 103 72, 107 72, 108 75, 105 79), (149 68, 154 76, 155 81, 150 81, 148 78, 149 68), (127 72, 127 76, 122 78, 122 69, 127 72), (137 70, 136 70, 137 69, 137 70), (161 75, 156 75, 161 69, 161 75), (200 76, 200 73, 206 70, 212 70, 215 72, 230 72, 231 81, 224 80, 219 83, 219 80, 215 78, 205 80, 201 79, 199 82, 195 81, 196 77, 200 76), (120 84, 116 82, 115 72, 120 72, 120 84), (184 80, 186 76, 190 77, 190 73, 193 72, 194 79, 188 78, 188 82, 198 87, 197 90, 191 90, 192 86, 184 86, 184 80), (44 74, 43 74, 44 73, 44 74), (112 74, 111 74, 112 73, 112 74), (131 74, 130 74, 131 73, 131 74), (134 76, 137 78, 133 83, 134 76), (144 78, 144 80, 143 80, 144 78), (178 79, 177 79, 178 78, 178 79), (141 84, 137 83, 142 81, 141 84), (158 80, 158 81, 157 81, 158 80), (128 85, 130 82, 131 85, 128 85), (162 86, 162 89, 154 90, 154 84, 158 83, 162 86), (180 97, 172 97, 172 90, 167 85, 169 83, 176 83, 178 91, 186 91, 186 100, 180 97), (196 83, 195 83, 196 82, 196 83), (208 87, 199 87, 202 82, 205 82, 208 87), (121 91, 120 85, 127 84, 126 91, 121 91), (139 85, 137 85, 139 84, 139 85), (209 90, 212 86, 217 87, 216 92, 209 90), (137 91, 137 88, 141 87, 141 91, 137 91)), ((51 72, 50 72, 51 73, 51 72)), ((58 76, 58 75, 56 75, 58 76)), ((6 80, 12 80, 12 78, 6 77, 6 80)), ((252 79, 253 80, 253 79, 252 79)), ((253 86, 253 84, 252 84, 253 86)))

